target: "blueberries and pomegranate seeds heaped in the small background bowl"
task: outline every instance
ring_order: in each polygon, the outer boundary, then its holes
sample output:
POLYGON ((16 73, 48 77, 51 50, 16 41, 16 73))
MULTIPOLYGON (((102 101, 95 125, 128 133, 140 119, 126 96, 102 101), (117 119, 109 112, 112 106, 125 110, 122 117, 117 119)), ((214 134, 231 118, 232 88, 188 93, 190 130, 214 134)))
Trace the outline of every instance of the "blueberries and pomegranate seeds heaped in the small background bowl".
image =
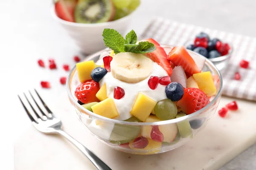
POLYGON ((231 49, 228 43, 221 42, 218 38, 210 39, 209 35, 204 32, 197 34, 194 42, 186 48, 209 59, 227 55, 231 49))

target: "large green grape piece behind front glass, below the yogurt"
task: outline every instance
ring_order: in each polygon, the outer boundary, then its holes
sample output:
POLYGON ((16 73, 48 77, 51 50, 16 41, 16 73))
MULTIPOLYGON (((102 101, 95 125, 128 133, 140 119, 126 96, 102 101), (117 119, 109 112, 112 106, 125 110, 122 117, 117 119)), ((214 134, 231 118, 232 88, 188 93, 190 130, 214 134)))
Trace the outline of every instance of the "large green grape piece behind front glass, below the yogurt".
MULTIPOLYGON (((136 117, 131 117, 127 122, 140 122, 136 117)), ((109 140, 118 141, 120 144, 127 143, 135 139, 140 134, 140 126, 115 124, 109 140)))

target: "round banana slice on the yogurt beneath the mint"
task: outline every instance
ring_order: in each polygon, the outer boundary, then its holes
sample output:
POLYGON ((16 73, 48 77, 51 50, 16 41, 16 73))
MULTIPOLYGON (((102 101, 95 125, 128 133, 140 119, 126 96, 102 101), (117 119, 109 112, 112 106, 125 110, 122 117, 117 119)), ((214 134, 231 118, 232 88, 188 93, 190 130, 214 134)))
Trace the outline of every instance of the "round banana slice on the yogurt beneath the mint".
POLYGON ((146 79, 153 70, 152 60, 143 54, 118 53, 111 61, 113 77, 122 82, 136 83, 146 79))

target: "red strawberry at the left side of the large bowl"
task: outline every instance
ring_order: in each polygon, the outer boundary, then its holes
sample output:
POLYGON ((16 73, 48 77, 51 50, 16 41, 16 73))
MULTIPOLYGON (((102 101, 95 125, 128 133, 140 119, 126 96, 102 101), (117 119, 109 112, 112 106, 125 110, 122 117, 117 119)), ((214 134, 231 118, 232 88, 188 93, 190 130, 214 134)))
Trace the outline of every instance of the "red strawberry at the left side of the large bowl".
POLYGON ((99 99, 96 97, 96 93, 98 91, 99 83, 94 82, 93 80, 87 80, 86 82, 77 86, 75 96, 84 104, 90 102, 99 102, 99 99))

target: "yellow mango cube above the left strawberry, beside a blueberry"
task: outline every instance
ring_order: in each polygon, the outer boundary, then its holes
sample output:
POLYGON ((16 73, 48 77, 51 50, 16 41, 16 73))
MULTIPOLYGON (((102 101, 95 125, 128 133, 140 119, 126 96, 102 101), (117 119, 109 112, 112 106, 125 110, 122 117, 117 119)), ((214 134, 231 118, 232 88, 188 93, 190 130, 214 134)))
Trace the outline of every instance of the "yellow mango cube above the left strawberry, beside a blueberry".
POLYGON ((90 74, 94 68, 95 63, 93 60, 77 63, 76 69, 80 82, 85 82, 86 80, 92 79, 90 74))

